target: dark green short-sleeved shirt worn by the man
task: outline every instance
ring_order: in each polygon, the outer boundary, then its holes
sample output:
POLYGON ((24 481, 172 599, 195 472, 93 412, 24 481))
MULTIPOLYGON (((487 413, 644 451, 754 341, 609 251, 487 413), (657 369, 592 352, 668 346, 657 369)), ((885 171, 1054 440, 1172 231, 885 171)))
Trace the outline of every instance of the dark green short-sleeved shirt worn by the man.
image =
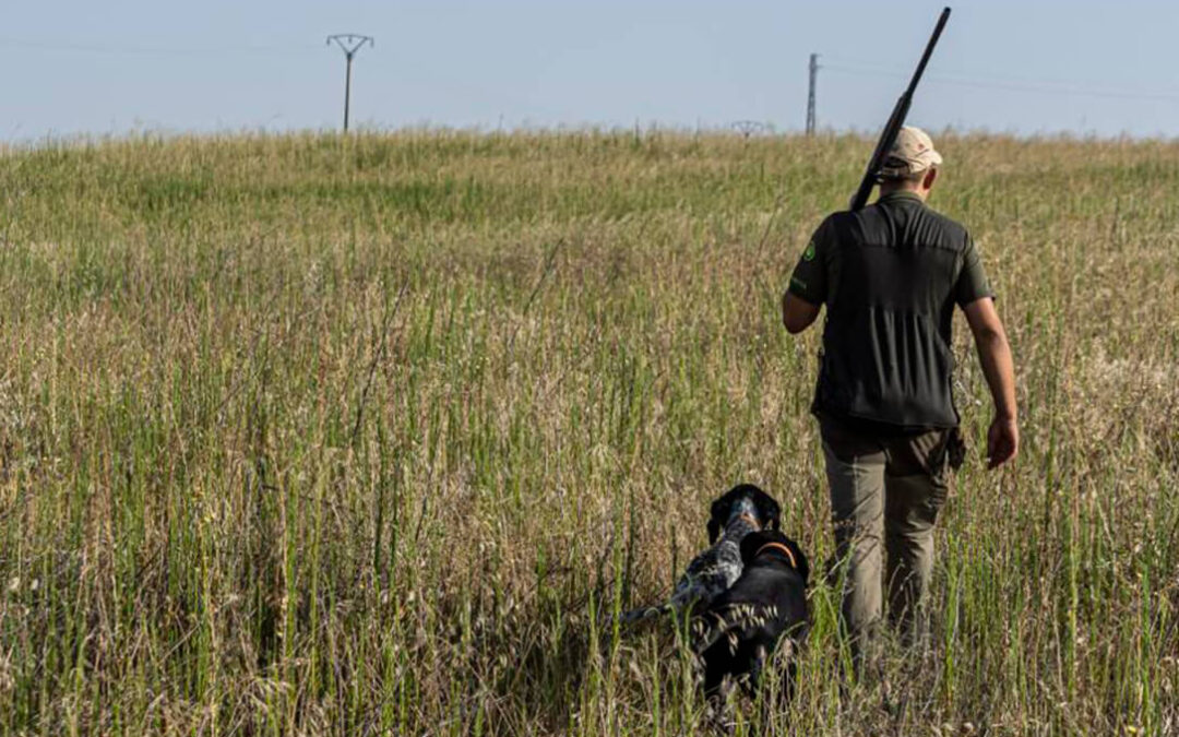
POLYGON ((989 295, 966 229, 900 192, 832 215, 812 245, 823 254, 828 309, 815 413, 956 427, 954 305, 989 295))

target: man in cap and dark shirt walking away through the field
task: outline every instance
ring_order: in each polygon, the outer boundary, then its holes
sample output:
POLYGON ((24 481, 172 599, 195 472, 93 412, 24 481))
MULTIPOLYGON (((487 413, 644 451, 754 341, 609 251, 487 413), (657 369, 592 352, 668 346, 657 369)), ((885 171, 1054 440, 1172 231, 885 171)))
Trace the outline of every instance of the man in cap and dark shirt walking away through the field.
POLYGON ((934 520, 962 461, 950 390, 954 305, 966 312, 994 399, 989 467, 1019 448, 1010 348, 967 230, 926 205, 942 157, 904 127, 880 199, 828 217, 783 296, 797 334, 826 305, 818 417, 839 559, 843 620, 857 670, 884 610, 914 644, 934 564, 934 520), (883 577, 883 581, 882 581, 883 577))

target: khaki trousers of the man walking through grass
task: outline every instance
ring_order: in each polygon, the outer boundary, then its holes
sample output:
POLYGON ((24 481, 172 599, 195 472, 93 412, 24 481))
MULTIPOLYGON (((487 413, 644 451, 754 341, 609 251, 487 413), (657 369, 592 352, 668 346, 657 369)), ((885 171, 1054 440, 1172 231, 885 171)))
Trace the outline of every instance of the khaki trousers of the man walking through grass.
POLYGON ((902 640, 913 645, 924 631, 934 521, 949 488, 950 430, 878 436, 824 420, 822 435, 843 624, 858 670, 882 619, 885 586, 889 619, 902 640))

